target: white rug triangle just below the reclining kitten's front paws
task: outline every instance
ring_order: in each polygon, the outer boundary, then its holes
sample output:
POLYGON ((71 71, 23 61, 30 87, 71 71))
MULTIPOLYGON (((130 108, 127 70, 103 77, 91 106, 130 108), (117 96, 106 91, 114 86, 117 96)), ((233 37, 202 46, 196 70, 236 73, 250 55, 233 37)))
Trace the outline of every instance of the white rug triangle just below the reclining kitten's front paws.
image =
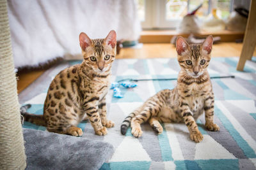
POLYGON ((195 160, 198 159, 236 159, 236 157, 211 136, 205 134, 203 141, 196 144, 195 160))

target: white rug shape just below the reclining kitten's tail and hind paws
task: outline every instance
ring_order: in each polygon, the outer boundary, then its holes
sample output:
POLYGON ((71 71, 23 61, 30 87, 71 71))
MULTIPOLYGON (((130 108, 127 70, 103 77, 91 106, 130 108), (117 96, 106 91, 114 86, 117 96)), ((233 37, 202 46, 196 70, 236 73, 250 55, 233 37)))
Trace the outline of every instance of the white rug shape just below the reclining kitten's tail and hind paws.
POLYGON ((122 143, 116 148, 113 157, 109 160, 109 162, 126 161, 151 161, 140 141, 133 136, 125 136, 122 143))

